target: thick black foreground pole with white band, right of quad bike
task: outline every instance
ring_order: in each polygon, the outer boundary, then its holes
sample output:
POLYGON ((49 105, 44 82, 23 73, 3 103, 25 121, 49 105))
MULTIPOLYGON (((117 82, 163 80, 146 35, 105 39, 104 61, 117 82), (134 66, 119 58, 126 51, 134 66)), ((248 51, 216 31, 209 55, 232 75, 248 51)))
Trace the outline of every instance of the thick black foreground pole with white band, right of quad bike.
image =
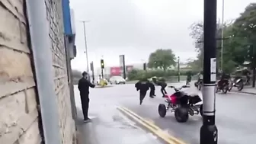
POLYGON ((217 0, 204 0, 203 126, 200 128, 200 144, 218 142, 218 130, 215 125, 216 9, 217 0))

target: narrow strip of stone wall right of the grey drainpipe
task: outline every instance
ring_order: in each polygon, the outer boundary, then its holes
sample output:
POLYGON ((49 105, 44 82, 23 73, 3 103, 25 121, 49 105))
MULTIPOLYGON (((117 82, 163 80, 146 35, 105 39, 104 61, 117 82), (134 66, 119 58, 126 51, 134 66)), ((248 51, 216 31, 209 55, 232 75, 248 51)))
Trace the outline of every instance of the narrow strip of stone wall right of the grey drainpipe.
POLYGON ((62 20, 62 1, 45 0, 49 37, 53 57, 53 72, 56 98, 59 106, 59 127, 62 144, 71 144, 75 139, 75 123, 72 119, 71 102, 66 65, 64 26, 62 20))

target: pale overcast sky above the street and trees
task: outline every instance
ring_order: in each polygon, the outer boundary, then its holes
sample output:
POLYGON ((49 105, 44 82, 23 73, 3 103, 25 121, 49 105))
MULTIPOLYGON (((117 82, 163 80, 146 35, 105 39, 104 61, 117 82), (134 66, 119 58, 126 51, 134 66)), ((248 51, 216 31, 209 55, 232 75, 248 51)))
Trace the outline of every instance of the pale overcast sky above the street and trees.
MULTIPOLYGON (((239 16, 253 0, 225 0, 225 21, 239 16)), ((171 49, 185 62, 195 58, 190 24, 203 21, 203 0, 70 0, 75 11, 75 44, 78 54, 72 68, 86 69, 83 25, 86 23, 88 59, 94 67, 119 66, 119 55, 126 64, 147 61, 158 48, 171 49)), ((222 0, 218 0, 218 18, 222 0)))

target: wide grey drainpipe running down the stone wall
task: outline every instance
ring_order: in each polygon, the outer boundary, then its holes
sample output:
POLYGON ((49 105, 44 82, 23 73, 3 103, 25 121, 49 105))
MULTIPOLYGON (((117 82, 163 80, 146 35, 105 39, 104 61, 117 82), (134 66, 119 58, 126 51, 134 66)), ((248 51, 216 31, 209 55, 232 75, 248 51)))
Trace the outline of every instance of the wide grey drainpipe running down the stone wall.
POLYGON ((36 72, 37 91, 46 144, 60 144, 59 112, 53 82, 53 62, 50 49, 49 23, 44 1, 27 0, 31 48, 36 72))

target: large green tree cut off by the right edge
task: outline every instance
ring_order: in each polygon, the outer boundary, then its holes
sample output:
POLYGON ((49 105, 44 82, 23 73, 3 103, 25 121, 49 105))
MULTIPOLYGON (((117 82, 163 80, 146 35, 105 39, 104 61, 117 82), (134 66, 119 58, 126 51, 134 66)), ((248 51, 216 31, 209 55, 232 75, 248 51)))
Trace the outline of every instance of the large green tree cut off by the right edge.
POLYGON ((230 45, 235 46, 238 62, 250 62, 253 70, 253 87, 255 86, 256 67, 256 3, 251 3, 235 20, 232 28, 230 45))

